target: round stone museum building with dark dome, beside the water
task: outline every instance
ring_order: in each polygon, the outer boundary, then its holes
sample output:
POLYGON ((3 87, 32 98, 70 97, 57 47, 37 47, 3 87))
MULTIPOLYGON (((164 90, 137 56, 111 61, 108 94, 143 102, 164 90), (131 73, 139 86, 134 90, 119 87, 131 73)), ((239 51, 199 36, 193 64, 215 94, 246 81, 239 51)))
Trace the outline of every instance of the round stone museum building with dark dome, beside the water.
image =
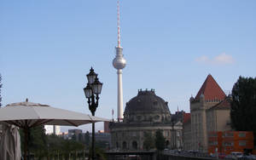
MULTIPOLYGON (((180 118, 182 119, 182 118, 180 118)), ((136 97, 126 103, 122 122, 112 122, 111 142, 113 149, 143 150, 145 134, 152 134, 160 129, 166 138, 166 148, 182 148, 183 125, 172 118, 168 102, 151 90, 138 90, 136 97)))

